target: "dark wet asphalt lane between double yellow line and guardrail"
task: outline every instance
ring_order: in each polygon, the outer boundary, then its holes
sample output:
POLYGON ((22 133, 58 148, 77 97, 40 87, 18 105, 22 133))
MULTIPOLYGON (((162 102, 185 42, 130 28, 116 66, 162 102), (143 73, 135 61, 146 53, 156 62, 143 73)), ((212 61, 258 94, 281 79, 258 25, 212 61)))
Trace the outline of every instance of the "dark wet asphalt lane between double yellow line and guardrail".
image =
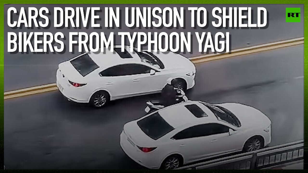
MULTIPOLYGON (((272 120, 271 146, 303 139, 303 45, 197 64, 192 100, 243 103, 272 120)), ((53 81, 54 82, 54 81, 53 81)), ((124 123, 142 117, 146 95, 104 109, 68 102, 58 91, 4 102, 7 169, 139 169, 124 154, 124 123)))

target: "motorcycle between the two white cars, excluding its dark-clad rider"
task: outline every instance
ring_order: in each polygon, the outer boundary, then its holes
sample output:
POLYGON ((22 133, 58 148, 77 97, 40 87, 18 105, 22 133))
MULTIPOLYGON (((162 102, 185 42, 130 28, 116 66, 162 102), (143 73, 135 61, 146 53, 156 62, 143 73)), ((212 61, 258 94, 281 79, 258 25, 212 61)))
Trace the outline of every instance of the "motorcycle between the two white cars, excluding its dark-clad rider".
MULTIPOLYGON (((176 103, 181 103, 181 102, 187 102, 188 98, 185 95, 185 92, 180 89, 180 88, 174 88, 174 90, 176 90, 176 103)), ((161 108, 164 108, 165 106, 159 101, 159 100, 152 100, 152 101, 147 101, 146 102, 146 107, 144 109, 144 111, 146 113, 151 113, 153 111, 157 111, 161 108)))

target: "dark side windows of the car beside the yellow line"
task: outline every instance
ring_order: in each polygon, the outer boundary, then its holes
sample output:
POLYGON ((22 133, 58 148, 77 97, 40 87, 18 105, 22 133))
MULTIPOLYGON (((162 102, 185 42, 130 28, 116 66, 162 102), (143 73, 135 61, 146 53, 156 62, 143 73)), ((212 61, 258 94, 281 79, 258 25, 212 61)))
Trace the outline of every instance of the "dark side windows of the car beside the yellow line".
POLYGON ((122 64, 107 68, 100 73, 101 76, 125 76, 133 74, 150 73, 151 68, 141 64, 122 64))

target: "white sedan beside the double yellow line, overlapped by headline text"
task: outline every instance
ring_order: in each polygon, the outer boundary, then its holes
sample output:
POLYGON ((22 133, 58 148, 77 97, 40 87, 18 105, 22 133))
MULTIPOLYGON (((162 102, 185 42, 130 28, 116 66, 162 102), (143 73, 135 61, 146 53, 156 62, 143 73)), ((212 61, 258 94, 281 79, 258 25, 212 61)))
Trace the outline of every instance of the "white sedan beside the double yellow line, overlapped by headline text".
POLYGON ((184 90, 195 85, 196 68, 180 54, 124 50, 105 48, 60 63, 59 91, 71 101, 102 107, 109 100, 160 92, 170 82, 184 90))

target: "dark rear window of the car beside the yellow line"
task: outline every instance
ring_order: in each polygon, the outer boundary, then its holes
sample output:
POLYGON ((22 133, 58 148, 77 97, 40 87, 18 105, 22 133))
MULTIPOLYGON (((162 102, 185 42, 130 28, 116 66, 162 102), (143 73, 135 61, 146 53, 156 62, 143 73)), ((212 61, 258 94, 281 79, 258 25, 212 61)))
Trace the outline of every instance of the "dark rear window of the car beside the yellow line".
POLYGON ((86 76, 99 67, 88 54, 81 55, 71 60, 71 64, 82 76, 86 76))

